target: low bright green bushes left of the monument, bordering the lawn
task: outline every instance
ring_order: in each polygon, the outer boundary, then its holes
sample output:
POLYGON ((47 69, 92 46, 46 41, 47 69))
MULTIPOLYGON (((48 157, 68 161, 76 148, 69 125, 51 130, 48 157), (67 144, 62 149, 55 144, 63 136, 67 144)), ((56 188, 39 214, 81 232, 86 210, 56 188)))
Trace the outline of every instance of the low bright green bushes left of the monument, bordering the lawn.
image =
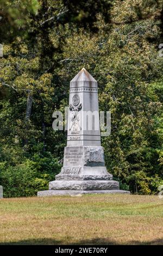
POLYGON ((17 166, 1 167, 1 184, 4 197, 34 196, 37 190, 48 188, 48 174, 40 174, 32 168, 33 162, 27 160, 17 166))

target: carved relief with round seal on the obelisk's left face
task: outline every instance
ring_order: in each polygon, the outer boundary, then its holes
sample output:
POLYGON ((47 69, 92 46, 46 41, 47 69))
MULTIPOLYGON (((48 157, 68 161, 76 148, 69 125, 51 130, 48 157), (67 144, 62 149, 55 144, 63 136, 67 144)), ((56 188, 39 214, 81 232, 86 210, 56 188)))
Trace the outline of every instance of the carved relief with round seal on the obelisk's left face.
POLYGON ((70 111, 72 112, 72 125, 70 127, 70 130, 72 127, 74 127, 74 130, 77 130, 75 126, 78 126, 79 129, 81 130, 82 128, 79 125, 79 111, 82 109, 82 103, 80 103, 80 97, 79 95, 75 94, 72 98, 72 104, 70 104, 70 111))

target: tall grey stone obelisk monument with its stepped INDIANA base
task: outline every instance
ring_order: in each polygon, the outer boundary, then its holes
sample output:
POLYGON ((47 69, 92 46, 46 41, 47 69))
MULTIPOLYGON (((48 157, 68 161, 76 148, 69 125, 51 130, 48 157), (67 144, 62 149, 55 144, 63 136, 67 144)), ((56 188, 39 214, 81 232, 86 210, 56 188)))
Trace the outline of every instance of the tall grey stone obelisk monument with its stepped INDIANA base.
POLYGON ((70 82, 63 167, 55 180, 49 182, 49 190, 39 191, 37 196, 87 193, 130 192, 120 190, 119 182, 112 180, 106 170, 99 127, 97 81, 83 68, 70 82))

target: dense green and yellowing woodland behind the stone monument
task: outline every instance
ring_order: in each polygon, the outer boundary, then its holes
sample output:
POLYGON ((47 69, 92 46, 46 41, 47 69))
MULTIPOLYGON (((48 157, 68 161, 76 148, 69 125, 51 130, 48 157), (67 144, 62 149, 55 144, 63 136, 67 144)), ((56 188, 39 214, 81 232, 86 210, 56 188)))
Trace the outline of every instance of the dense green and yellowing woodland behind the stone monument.
POLYGON ((0 5, 4 196, 33 196, 60 172, 66 132, 52 129, 52 114, 64 112, 70 81, 83 67, 98 81, 100 110, 111 111, 111 135, 102 137, 108 172, 122 189, 158 193, 163 2, 1 0, 0 5))

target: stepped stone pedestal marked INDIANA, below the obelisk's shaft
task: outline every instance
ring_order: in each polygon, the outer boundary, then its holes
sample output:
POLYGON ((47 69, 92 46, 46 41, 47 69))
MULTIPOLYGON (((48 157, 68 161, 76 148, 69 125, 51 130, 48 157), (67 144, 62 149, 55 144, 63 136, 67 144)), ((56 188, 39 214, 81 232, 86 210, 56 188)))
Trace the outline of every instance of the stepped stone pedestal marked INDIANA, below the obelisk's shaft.
POLYGON ((39 191, 37 196, 90 193, 130 193, 120 190, 119 182, 112 180, 112 175, 107 172, 101 146, 65 147, 61 172, 49 182, 49 190, 39 191))

